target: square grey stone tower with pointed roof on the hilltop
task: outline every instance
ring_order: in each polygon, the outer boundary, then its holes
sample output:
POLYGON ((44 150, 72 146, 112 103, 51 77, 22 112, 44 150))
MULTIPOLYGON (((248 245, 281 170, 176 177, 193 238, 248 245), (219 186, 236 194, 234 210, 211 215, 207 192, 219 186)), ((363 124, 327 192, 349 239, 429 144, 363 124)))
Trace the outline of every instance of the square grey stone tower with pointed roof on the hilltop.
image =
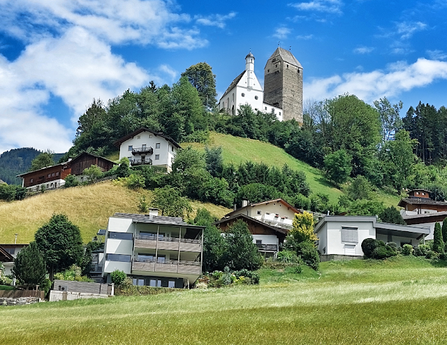
POLYGON ((281 47, 265 64, 264 103, 281 108, 284 121, 295 119, 302 124, 302 66, 281 47))

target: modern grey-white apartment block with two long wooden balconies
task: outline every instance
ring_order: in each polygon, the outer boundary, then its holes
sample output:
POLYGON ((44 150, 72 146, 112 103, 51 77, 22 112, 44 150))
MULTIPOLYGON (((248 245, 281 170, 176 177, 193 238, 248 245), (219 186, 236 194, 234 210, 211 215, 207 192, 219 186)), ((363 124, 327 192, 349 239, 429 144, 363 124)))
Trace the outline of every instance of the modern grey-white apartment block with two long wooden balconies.
POLYGON ((202 273, 203 229, 182 218, 115 213, 105 230, 103 279, 124 271, 134 285, 185 288, 202 273))

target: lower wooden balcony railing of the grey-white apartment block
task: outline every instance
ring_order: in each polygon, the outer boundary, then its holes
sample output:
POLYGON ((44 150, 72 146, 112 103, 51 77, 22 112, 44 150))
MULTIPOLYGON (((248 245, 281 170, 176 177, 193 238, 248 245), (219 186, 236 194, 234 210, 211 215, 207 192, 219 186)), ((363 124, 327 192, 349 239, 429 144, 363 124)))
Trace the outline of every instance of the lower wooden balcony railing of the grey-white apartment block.
POLYGON ((134 258, 132 270, 145 272, 166 272, 183 274, 200 274, 201 263, 196 261, 164 260, 156 262, 155 259, 134 258))

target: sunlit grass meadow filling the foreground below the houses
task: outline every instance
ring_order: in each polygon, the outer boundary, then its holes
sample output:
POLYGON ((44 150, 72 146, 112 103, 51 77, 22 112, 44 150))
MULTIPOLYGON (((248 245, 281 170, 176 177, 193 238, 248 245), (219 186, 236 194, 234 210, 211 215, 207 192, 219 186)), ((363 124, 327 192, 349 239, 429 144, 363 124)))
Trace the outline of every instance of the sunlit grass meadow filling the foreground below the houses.
POLYGON ((261 285, 0 309, 0 344, 445 344, 447 268, 398 257, 261 285))

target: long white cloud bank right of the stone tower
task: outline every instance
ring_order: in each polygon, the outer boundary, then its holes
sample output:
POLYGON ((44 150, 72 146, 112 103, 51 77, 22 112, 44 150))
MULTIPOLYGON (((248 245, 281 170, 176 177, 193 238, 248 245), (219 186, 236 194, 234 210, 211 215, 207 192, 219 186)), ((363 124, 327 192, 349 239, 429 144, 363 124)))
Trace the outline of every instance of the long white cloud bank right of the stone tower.
POLYGON ((383 96, 396 96, 437 79, 447 79, 447 62, 420 58, 414 64, 397 62, 386 71, 346 73, 314 79, 304 86, 305 98, 325 99, 340 94, 355 94, 367 103, 383 96))

